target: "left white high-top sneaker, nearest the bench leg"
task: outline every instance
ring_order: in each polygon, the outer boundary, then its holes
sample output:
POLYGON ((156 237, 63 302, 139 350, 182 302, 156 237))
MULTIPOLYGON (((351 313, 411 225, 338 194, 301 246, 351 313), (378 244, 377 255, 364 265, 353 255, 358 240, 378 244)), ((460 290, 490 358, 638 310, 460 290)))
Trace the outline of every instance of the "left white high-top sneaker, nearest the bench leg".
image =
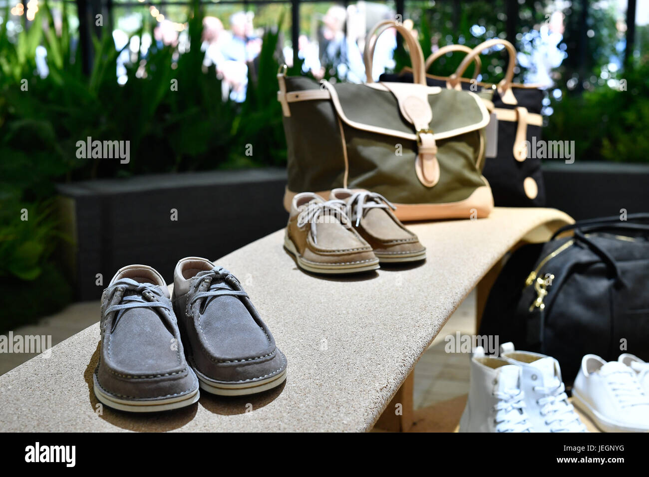
POLYGON ((487 358, 482 347, 471 357, 471 387, 459 432, 532 432, 519 387, 520 369, 487 358))

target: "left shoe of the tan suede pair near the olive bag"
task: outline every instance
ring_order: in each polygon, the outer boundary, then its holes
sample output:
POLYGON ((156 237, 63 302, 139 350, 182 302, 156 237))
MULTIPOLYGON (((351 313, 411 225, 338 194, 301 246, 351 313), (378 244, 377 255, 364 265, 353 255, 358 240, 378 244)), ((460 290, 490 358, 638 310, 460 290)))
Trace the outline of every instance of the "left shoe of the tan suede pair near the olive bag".
POLYGON ((293 197, 284 248, 312 273, 358 273, 378 269, 372 247, 352 227, 342 201, 302 192, 293 197))

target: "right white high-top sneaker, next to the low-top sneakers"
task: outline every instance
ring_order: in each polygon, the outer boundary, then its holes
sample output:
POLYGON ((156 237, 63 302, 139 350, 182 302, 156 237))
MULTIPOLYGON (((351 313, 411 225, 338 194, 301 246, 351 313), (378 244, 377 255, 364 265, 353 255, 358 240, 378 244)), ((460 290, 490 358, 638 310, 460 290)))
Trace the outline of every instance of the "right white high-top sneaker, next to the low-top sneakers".
POLYGON ((500 357, 520 367, 520 389, 534 432, 588 432, 561 380, 559 362, 545 354, 516 351, 513 343, 500 347, 500 357))

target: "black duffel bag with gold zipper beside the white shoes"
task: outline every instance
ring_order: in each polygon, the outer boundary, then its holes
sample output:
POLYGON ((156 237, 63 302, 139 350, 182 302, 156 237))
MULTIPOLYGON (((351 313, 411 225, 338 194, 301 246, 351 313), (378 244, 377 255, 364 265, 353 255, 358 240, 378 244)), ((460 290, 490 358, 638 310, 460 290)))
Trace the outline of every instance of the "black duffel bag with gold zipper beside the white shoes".
POLYGON ((567 385, 585 354, 649 361, 649 214, 580 221, 517 249, 489 293, 479 333, 554 356, 567 385))

